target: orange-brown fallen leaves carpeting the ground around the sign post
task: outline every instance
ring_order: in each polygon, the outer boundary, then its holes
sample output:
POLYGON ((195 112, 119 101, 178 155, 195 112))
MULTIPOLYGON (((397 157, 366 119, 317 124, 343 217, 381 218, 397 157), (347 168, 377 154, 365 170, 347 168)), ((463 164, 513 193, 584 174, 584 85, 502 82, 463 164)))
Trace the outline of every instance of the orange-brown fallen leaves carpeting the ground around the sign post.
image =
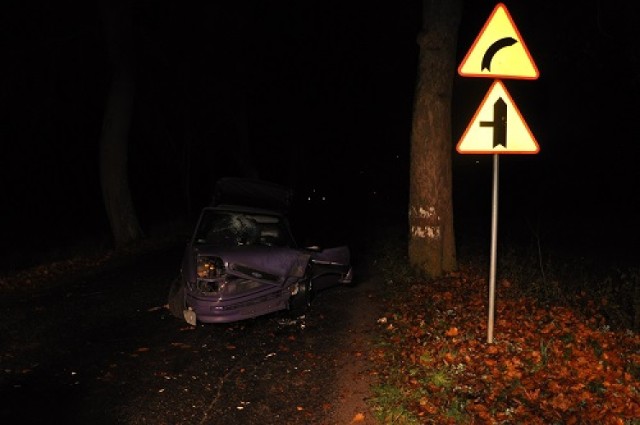
POLYGON ((407 284, 378 319, 372 358, 385 387, 371 402, 383 423, 404 412, 406 423, 640 424, 637 334, 610 330, 596 302, 589 315, 540 305, 502 280, 489 343, 488 284, 476 274, 407 284))

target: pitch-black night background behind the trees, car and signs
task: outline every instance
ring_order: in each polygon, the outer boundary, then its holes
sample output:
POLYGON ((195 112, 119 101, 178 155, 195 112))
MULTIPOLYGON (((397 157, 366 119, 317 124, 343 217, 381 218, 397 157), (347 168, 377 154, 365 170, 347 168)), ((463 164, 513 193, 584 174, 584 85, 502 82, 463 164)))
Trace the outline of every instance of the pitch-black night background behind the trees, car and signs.
MULTIPOLYGON (((109 246, 98 141, 111 69, 97 3, 12 1, 2 15, 2 270, 109 246)), ((496 4, 466 2, 459 60, 496 4)), ((504 4, 540 78, 503 82, 540 153, 500 158, 499 238, 633 259, 637 2, 504 4)), ((147 234, 193 223, 214 182, 241 176, 247 159, 345 229, 406 221, 420 1, 140 1, 133 11, 129 181, 147 234)), ((454 78, 452 149, 491 84, 454 78)), ((488 250, 491 155, 454 152, 453 177, 456 238, 488 250)))

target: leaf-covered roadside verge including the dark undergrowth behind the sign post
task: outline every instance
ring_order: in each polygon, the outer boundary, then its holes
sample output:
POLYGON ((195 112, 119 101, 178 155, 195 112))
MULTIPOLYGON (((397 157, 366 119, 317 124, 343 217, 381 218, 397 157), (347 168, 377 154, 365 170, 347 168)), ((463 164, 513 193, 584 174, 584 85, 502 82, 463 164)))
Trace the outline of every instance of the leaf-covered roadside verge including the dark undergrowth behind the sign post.
POLYGON ((489 342, 488 262, 427 281, 402 252, 387 243, 376 260, 389 297, 371 353, 381 423, 640 424, 640 337, 625 311, 637 273, 505 255, 489 342))

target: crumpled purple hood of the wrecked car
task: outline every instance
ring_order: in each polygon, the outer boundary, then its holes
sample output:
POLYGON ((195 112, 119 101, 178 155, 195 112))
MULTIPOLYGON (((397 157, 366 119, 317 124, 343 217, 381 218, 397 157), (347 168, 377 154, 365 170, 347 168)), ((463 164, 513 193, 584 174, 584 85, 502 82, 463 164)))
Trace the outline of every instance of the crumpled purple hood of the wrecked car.
POLYGON ((260 245, 226 248, 201 246, 195 253, 220 257, 225 265, 231 268, 240 265, 277 276, 296 277, 304 275, 310 258, 308 253, 297 249, 260 245))

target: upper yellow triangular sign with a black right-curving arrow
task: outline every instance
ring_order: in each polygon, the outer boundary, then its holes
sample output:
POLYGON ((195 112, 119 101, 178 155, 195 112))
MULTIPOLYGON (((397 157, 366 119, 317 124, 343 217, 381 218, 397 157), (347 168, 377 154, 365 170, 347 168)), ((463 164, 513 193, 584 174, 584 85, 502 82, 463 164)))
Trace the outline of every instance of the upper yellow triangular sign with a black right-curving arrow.
POLYGON ((458 67, 463 77, 535 80, 540 73, 506 6, 498 3, 458 67))

